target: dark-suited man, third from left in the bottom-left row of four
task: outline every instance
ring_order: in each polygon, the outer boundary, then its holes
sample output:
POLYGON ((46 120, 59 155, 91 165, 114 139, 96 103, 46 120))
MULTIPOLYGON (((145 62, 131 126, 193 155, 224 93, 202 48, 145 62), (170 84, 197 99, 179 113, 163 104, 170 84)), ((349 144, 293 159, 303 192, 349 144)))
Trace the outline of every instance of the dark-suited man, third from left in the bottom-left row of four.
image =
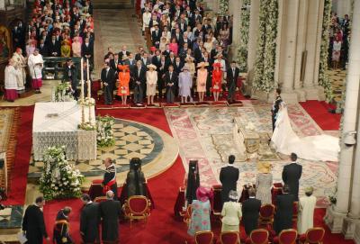
POLYGON ((80 235, 84 243, 99 243, 99 204, 93 203, 88 194, 80 197, 84 207, 80 214, 80 235))

